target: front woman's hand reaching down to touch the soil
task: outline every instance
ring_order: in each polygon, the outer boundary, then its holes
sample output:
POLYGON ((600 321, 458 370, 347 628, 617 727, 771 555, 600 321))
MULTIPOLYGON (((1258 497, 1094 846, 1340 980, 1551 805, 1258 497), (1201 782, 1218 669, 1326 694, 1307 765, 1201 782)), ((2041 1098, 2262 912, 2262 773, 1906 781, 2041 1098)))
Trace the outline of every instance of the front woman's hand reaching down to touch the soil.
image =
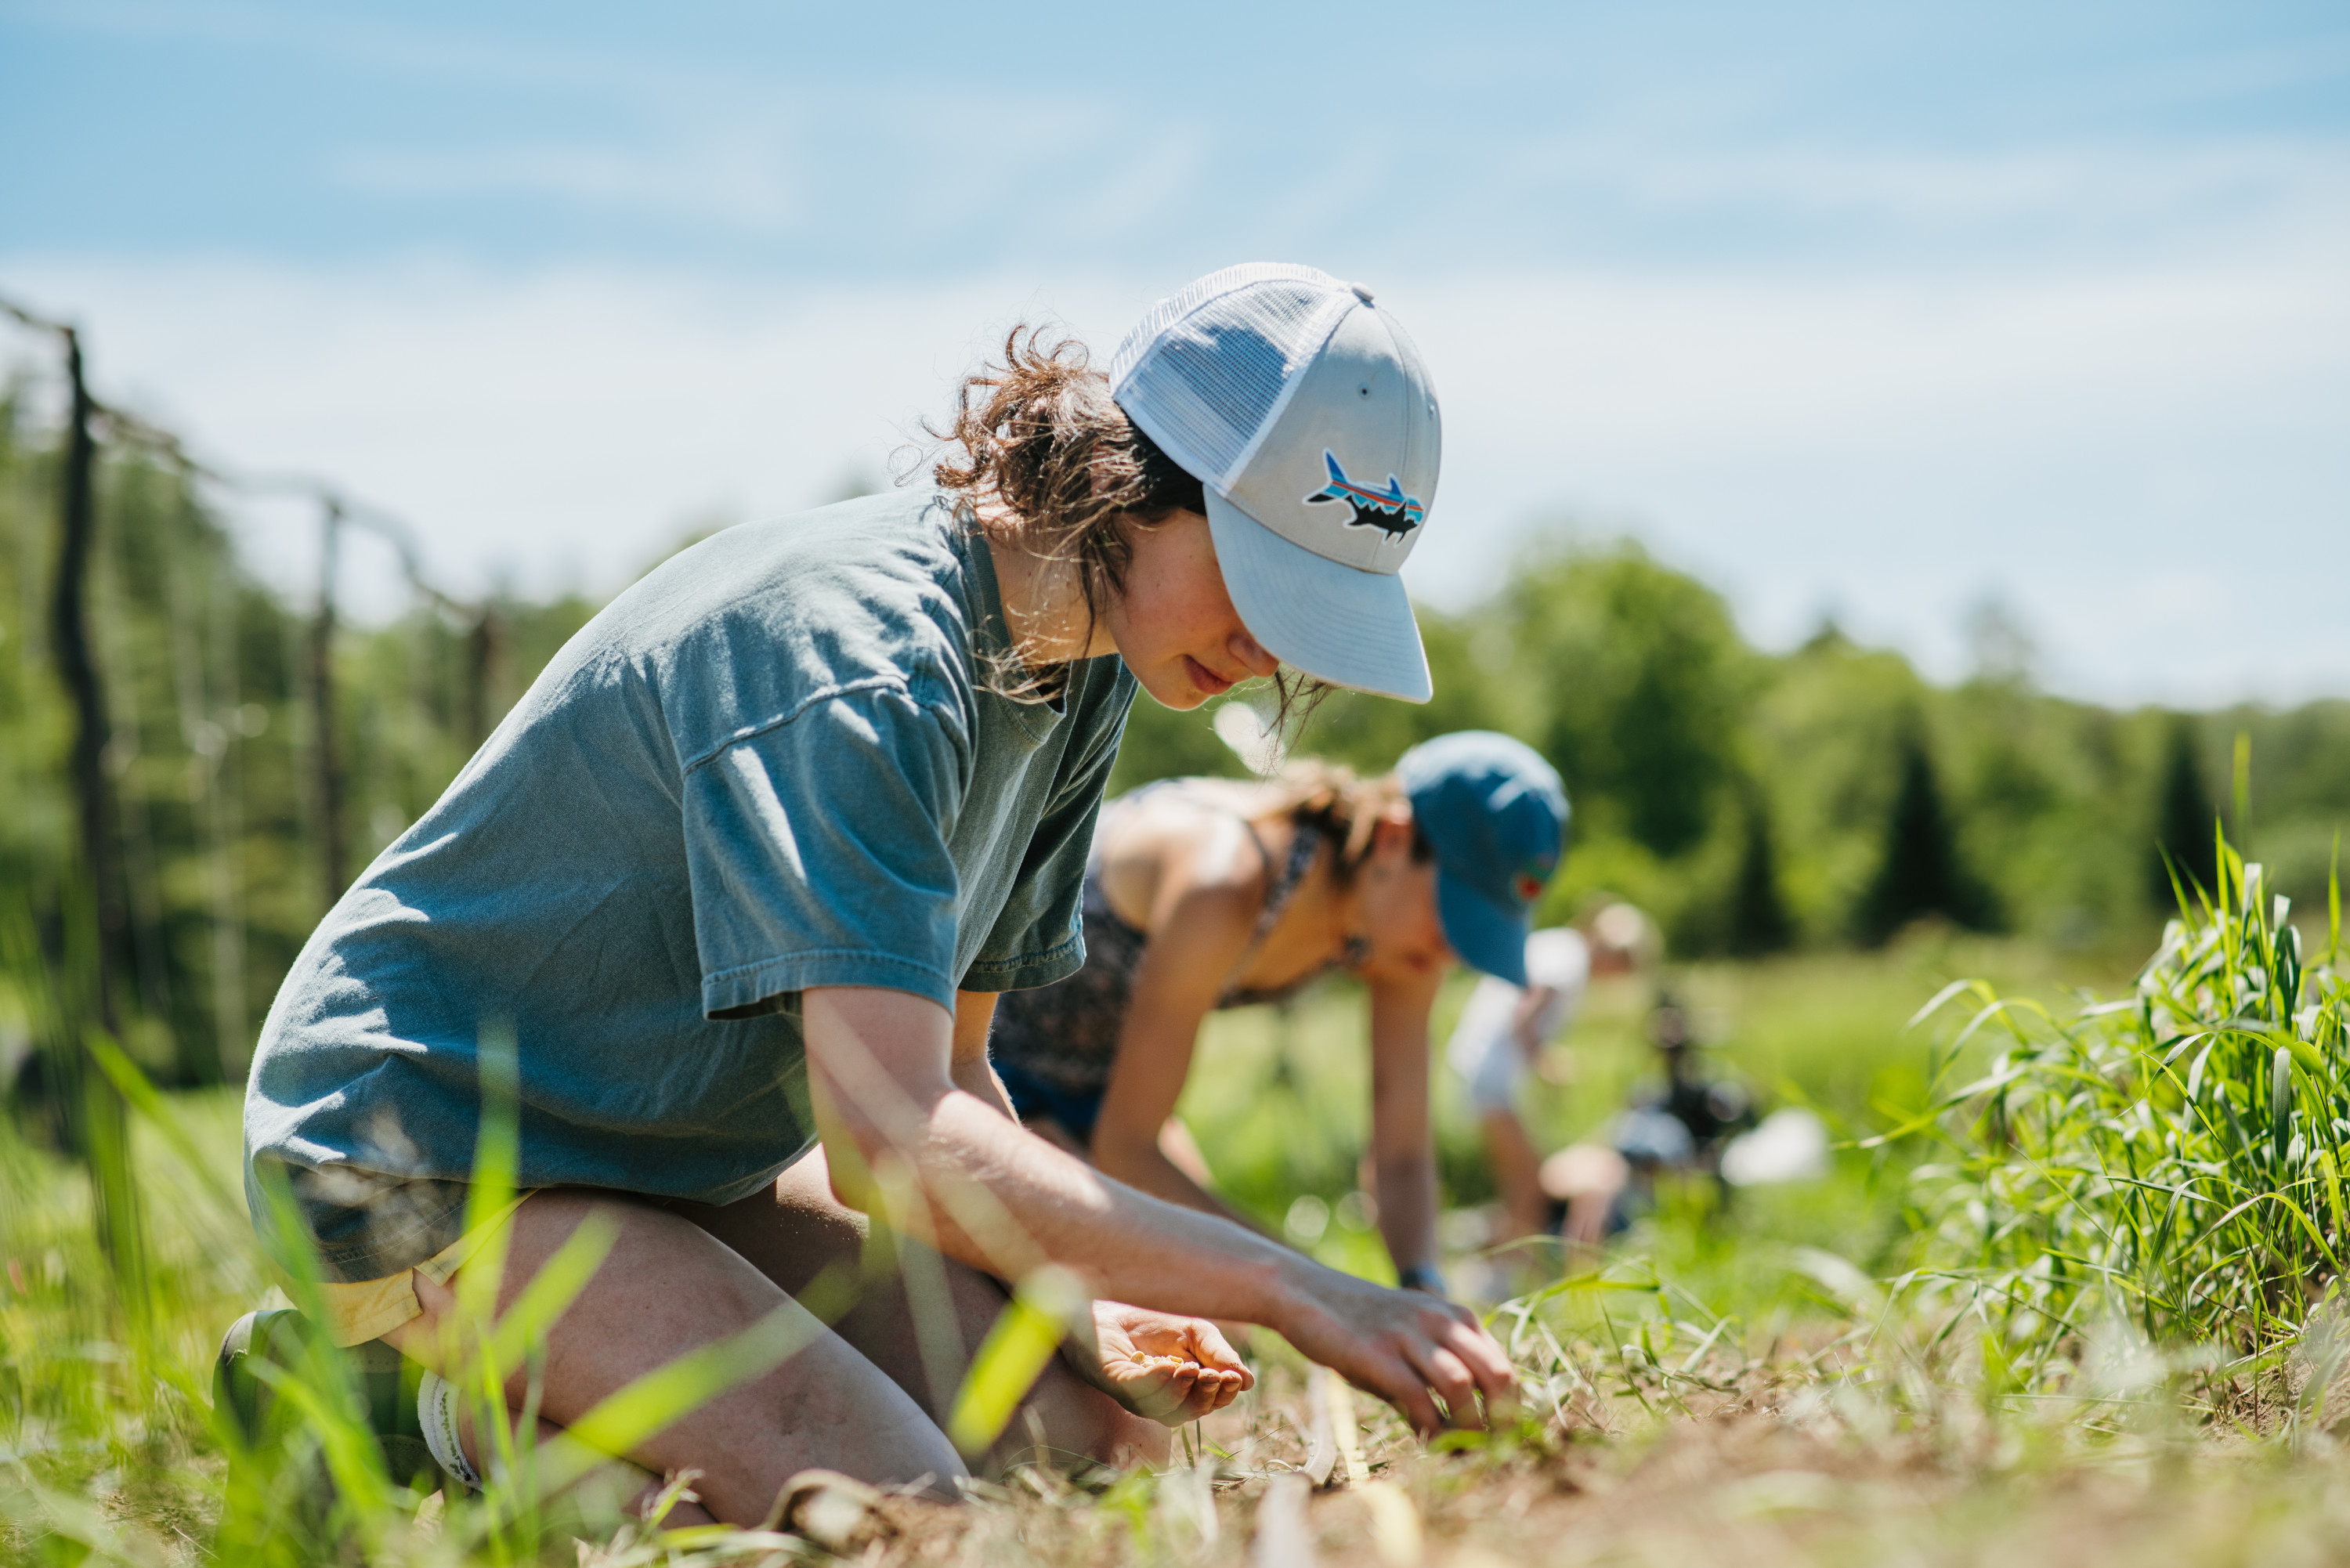
POLYGON ((1309 1274, 1297 1305, 1274 1328, 1309 1359, 1396 1406, 1422 1436, 1483 1427, 1516 1406, 1518 1373, 1469 1307, 1300 1265, 1309 1274))

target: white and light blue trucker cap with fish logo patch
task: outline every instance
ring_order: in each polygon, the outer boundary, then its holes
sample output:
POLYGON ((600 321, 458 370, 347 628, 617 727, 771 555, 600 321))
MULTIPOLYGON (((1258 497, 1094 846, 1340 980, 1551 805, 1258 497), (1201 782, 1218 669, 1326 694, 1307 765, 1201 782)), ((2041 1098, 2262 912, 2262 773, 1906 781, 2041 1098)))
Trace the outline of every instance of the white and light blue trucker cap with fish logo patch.
POLYGON ((1253 261, 1159 301, 1109 395, 1208 489, 1231 607, 1281 663, 1426 703, 1403 567, 1436 501, 1436 390, 1370 289, 1253 261))

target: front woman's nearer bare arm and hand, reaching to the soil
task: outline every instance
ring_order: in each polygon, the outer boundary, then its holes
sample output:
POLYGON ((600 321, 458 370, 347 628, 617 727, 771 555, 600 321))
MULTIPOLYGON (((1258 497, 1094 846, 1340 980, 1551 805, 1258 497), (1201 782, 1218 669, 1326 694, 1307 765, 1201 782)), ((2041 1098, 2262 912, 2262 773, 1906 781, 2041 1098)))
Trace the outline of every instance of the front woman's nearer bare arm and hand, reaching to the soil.
MULTIPOLYGON (((834 1192, 900 1194, 898 1222, 1006 1279, 1043 1262, 1140 1307, 1264 1324, 1422 1432, 1506 1403, 1499 1345, 1466 1307, 1325 1269, 1229 1220, 1135 1192, 1022 1131, 954 1079, 947 1009, 891 990, 804 992, 808 1088, 834 1192), (1443 1401, 1443 1410, 1438 1408, 1443 1401)), ((985 1046, 982 1046, 985 1048, 985 1046)))

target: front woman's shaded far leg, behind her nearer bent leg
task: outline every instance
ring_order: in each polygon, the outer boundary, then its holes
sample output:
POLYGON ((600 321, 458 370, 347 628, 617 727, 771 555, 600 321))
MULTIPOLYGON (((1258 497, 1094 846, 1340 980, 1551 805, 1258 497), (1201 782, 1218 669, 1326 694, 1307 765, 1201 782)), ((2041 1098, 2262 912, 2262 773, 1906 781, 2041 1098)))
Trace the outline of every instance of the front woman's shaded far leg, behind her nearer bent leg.
MULTIPOLYGON (((827 1267, 837 1269, 834 1279, 855 1295, 834 1319, 834 1331, 940 1425, 961 1387, 964 1366, 1003 1312, 1003 1286, 912 1239, 900 1241, 907 1251, 902 1269, 888 1260, 860 1279, 870 1227, 865 1215, 832 1197, 822 1150, 808 1152, 778 1175, 773 1187, 740 1204, 726 1208, 677 1204, 674 1211, 792 1295, 806 1293, 827 1267), (928 1352, 921 1335, 926 1321, 947 1331, 933 1335, 928 1352)), ((830 1295, 832 1286, 815 1298, 815 1305, 825 1307, 830 1295)), ((1170 1441, 1166 1427, 1128 1413, 1109 1394, 1079 1380, 1060 1359, 1046 1363, 1043 1378, 1013 1415, 1003 1441, 989 1455, 994 1469, 1027 1458, 1032 1434, 1041 1434, 1043 1446, 1058 1458, 1081 1455, 1119 1467, 1161 1465, 1170 1441)))

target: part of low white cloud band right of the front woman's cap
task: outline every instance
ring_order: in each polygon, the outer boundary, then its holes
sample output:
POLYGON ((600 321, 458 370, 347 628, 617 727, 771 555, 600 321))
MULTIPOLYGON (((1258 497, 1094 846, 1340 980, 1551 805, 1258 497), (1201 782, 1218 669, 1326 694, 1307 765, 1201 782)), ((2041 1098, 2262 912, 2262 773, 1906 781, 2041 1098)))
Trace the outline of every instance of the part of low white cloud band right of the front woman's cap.
MULTIPOLYGON (((1523 515, 1542 475, 1652 520, 1772 642, 1838 604, 1948 675, 1965 604, 2000 585, 2075 691, 2345 691, 2345 261, 1520 277, 1412 301, 1445 393, 1441 517, 1523 515), (2150 609, 2181 576, 2202 616, 2150 609)), ((1478 576, 1431 585, 1462 597, 1478 576)))

